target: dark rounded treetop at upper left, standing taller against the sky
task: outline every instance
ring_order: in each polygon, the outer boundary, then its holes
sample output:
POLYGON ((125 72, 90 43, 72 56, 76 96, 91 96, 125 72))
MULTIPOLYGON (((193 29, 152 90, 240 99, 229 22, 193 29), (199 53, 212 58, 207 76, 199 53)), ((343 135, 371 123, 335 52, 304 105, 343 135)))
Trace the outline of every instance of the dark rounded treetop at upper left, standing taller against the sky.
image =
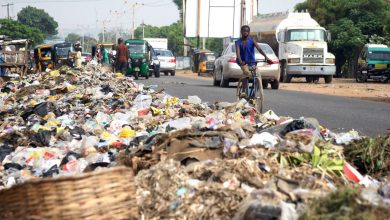
POLYGON ((27 6, 18 13, 18 21, 39 29, 45 36, 56 35, 58 23, 43 9, 27 6))

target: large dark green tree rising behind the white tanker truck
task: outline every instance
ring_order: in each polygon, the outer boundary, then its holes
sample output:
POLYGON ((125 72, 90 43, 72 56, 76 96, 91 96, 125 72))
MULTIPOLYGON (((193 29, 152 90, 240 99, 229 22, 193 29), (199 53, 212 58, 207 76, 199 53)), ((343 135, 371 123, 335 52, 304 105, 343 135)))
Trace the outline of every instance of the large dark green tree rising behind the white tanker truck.
POLYGON ((390 3, 386 0, 306 0, 297 4, 295 10, 308 10, 331 31, 329 49, 335 53, 338 73, 347 64, 349 76, 353 75, 365 43, 389 40, 390 3))

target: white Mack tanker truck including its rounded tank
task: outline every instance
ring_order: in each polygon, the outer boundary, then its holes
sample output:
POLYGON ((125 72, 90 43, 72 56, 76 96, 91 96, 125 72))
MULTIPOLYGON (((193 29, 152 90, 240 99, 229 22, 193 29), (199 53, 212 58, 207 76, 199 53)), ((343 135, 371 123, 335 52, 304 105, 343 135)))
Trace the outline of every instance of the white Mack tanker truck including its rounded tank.
POLYGON ((306 77, 307 82, 318 82, 324 77, 325 83, 332 82, 336 66, 335 56, 328 52, 330 33, 309 13, 263 15, 250 26, 251 35, 278 51, 281 81, 289 83, 293 77, 306 77))

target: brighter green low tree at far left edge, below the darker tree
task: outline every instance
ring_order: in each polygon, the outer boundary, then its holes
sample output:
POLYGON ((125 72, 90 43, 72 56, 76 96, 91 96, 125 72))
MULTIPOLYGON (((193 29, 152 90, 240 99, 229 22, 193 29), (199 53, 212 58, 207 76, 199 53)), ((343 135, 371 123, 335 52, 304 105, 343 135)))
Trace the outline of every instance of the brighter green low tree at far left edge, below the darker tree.
POLYGON ((34 44, 42 43, 44 35, 40 30, 28 27, 18 21, 0 19, 0 35, 6 35, 13 39, 31 39, 34 44))

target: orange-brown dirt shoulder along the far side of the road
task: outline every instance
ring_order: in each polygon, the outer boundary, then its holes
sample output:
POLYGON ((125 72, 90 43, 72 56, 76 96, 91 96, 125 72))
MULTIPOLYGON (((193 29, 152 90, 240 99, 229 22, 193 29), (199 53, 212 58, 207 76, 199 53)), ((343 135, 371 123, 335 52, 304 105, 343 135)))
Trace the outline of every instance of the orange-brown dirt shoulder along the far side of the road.
MULTIPOLYGON (((212 80, 211 75, 199 77, 188 70, 177 71, 176 74, 183 77, 212 80)), ((390 103, 390 83, 357 83, 354 79, 335 78, 331 84, 325 84, 324 79, 320 79, 318 84, 308 84, 304 78, 294 78, 291 83, 281 83, 280 89, 390 103)))

